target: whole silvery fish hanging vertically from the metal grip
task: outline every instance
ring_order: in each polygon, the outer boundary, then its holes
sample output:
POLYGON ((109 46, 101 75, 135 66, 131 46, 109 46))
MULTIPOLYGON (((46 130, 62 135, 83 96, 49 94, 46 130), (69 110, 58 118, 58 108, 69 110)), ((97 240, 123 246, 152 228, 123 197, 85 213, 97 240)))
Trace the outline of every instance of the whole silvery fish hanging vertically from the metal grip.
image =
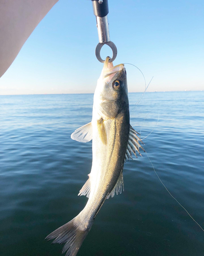
POLYGON ((71 134, 73 140, 92 140, 92 167, 79 196, 88 198, 78 216, 50 233, 46 239, 64 244, 65 256, 77 255, 106 199, 124 191, 123 166, 143 143, 130 125, 127 78, 124 64, 113 66, 108 56, 97 81, 90 123, 71 134))

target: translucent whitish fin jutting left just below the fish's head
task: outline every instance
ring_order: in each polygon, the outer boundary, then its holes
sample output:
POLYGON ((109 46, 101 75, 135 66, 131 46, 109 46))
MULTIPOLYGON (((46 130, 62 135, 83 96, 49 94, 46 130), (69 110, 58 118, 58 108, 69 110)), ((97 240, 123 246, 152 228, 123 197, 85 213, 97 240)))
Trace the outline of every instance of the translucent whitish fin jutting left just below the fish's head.
POLYGON ((79 142, 88 142, 92 140, 92 124, 87 123, 82 127, 78 128, 71 134, 72 140, 77 140, 79 142))

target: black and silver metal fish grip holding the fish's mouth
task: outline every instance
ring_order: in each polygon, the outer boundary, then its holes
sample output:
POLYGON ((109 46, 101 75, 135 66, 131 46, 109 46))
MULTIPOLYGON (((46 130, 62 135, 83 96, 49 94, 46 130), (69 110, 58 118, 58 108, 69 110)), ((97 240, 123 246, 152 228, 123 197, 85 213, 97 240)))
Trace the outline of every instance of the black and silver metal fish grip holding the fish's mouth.
POLYGON ((109 62, 113 62, 117 56, 117 48, 115 44, 110 40, 110 33, 109 33, 109 22, 108 22, 108 0, 91 0, 93 6, 93 13, 96 16, 96 26, 98 30, 98 39, 99 43, 95 49, 96 58, 104 63, 100 57, 100 50, 104 45, 107 45, 111 48, 113 52, 112 58, 109 59, 109 62))

